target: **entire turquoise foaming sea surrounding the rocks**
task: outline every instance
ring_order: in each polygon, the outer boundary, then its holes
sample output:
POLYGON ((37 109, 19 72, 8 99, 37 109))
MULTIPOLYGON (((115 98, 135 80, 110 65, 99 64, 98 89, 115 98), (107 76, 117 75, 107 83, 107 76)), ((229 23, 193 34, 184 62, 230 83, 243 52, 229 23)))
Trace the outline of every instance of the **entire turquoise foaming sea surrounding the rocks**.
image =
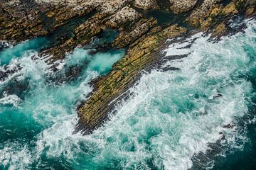
POLYGON ((166 56, 187 57, 163 68, 177 69, 144 72, 91 135, 75 132, 76 108, 124 50, 77 48, 57 72, 34 60, 41 40, 2 50, 1 69, 21 69, 0 82, 0 169, 252 169, 256 22, 245 22, 218 42, 197 33, 171 44, 166 56))

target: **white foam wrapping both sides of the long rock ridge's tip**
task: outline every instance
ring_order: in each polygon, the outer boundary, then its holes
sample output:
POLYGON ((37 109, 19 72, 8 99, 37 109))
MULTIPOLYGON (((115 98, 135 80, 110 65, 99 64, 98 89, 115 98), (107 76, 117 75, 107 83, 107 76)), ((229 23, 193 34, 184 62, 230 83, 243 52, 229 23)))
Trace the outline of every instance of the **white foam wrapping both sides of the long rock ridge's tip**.
MULTIPOLYGON (((23 146, 6 146, 0 150, 0 162, 26 169, 46 154, 50 159, 64 157, 81 169, 87 169, 88 164, 100 169, 112 162, 118 162, 122 169, 151 169, 152 165, 158 169, 189 169, 193 154, 206 152, 209 142, 222 137, 219 132, 225 135, 223 145, 242 149, 237 140, 246 141, 245 136, 223 125, 235 123, 235 117, 242 118, 247 112, 245 97, 251 93, 251 84, 230 78, 246 72, 247 65, 252 64, 242 45, 255 45, 255 23, 247 25, 245 34, 218 43, 208 42, 208 37, 200 33, 193 36, 196 40, 189 48, 184 47, 193 38, 171 45, 166 55, 188 57, 167 62, 165 67, 180 70, 145 73, 131 89, 135 95, 117 106, 117 114, 104 127, 87 136, 73 133, 78 123, 73 101, 92 91, 88 82, 98 73, 86 70, 82 82, 50 89, 43 81, 47 64, 34 62, 31 57, 16 60, 23 67, 19 78, 32 77, 38 88, 24 104, 24 112, 31 113, 44 130, 37 136, 33 152, 23 146), (218 93, 222 96, 216 98, 218 93)), ((80 57, 69 62, 80 62, 80 57)))

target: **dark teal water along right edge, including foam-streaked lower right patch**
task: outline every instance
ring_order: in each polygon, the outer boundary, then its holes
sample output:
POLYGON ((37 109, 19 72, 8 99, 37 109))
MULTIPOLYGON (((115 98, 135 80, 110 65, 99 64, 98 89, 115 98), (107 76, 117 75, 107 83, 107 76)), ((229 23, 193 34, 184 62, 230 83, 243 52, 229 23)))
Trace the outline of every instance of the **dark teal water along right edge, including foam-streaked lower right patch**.
MULTIPOLYGON (((255 62, 255 52, 252 47, 244 47, 247 55, 252 63, 255 62)), ((210 151, 195 154, 193 156, 193 167, 191 170, 206 169, 206 164, 213 165, 213 170, 252 170, 256 167, 256 67, 248 69, 245 74, 240 74, 239 79, 245 79, 252 84, 250 97, 245 97, 247 101, 248 111, 244 117, 236 118, 235 126, 238 129, 238 134, 247 137, 248 141, 235 137, 235 145, 243 147, 241 149, 233 148, 230 145, 221 145, 220 141, 214 144, 209 144, 210 151), (225 157, 219 155, 224 154, 225 157), (214 161, 214 162, 213 162, 214 161)), ((234 78, 235 79, 235 78, 234 78)), ((227 125, 225 128, 233 128, 232 125, 227 125)), ((223 140, 225 136, 223 135, 223 140)), ((221 139, 220 139, 221 140, 221 139)))

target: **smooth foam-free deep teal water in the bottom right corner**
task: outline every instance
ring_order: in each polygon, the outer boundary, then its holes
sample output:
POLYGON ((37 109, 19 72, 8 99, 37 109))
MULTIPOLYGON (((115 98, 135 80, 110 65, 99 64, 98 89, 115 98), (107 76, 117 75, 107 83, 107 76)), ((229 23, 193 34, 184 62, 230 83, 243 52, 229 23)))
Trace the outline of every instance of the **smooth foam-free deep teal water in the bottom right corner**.
MULTIPOLYGON (((254 54, 253 52, 251 55, 254 54)), ((252 83, 252 98, 248 103, 249 111, 245 115, 246 134, 249 142, 245 143, 245 147, 241 150, 235 149, 233 152, 227 154, 227 157, 218 157, 215 161, 213 170, 227 169, 227 170, 252 170, 256 167, 256 122, 251 122, 256 116, 256 68, 250 70, 247 74, 246 80, 252 83)))

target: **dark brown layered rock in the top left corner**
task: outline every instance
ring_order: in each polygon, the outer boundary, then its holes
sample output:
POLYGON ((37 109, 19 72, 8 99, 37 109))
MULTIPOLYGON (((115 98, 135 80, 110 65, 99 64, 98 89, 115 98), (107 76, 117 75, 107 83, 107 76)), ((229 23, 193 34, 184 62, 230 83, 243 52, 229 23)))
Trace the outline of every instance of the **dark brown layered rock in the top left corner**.
POLYGON ((46 35, 40 13, 29 10, 31 4, 18 0, 0 4, 0 39, 20 42, 39 35, 46 35))

